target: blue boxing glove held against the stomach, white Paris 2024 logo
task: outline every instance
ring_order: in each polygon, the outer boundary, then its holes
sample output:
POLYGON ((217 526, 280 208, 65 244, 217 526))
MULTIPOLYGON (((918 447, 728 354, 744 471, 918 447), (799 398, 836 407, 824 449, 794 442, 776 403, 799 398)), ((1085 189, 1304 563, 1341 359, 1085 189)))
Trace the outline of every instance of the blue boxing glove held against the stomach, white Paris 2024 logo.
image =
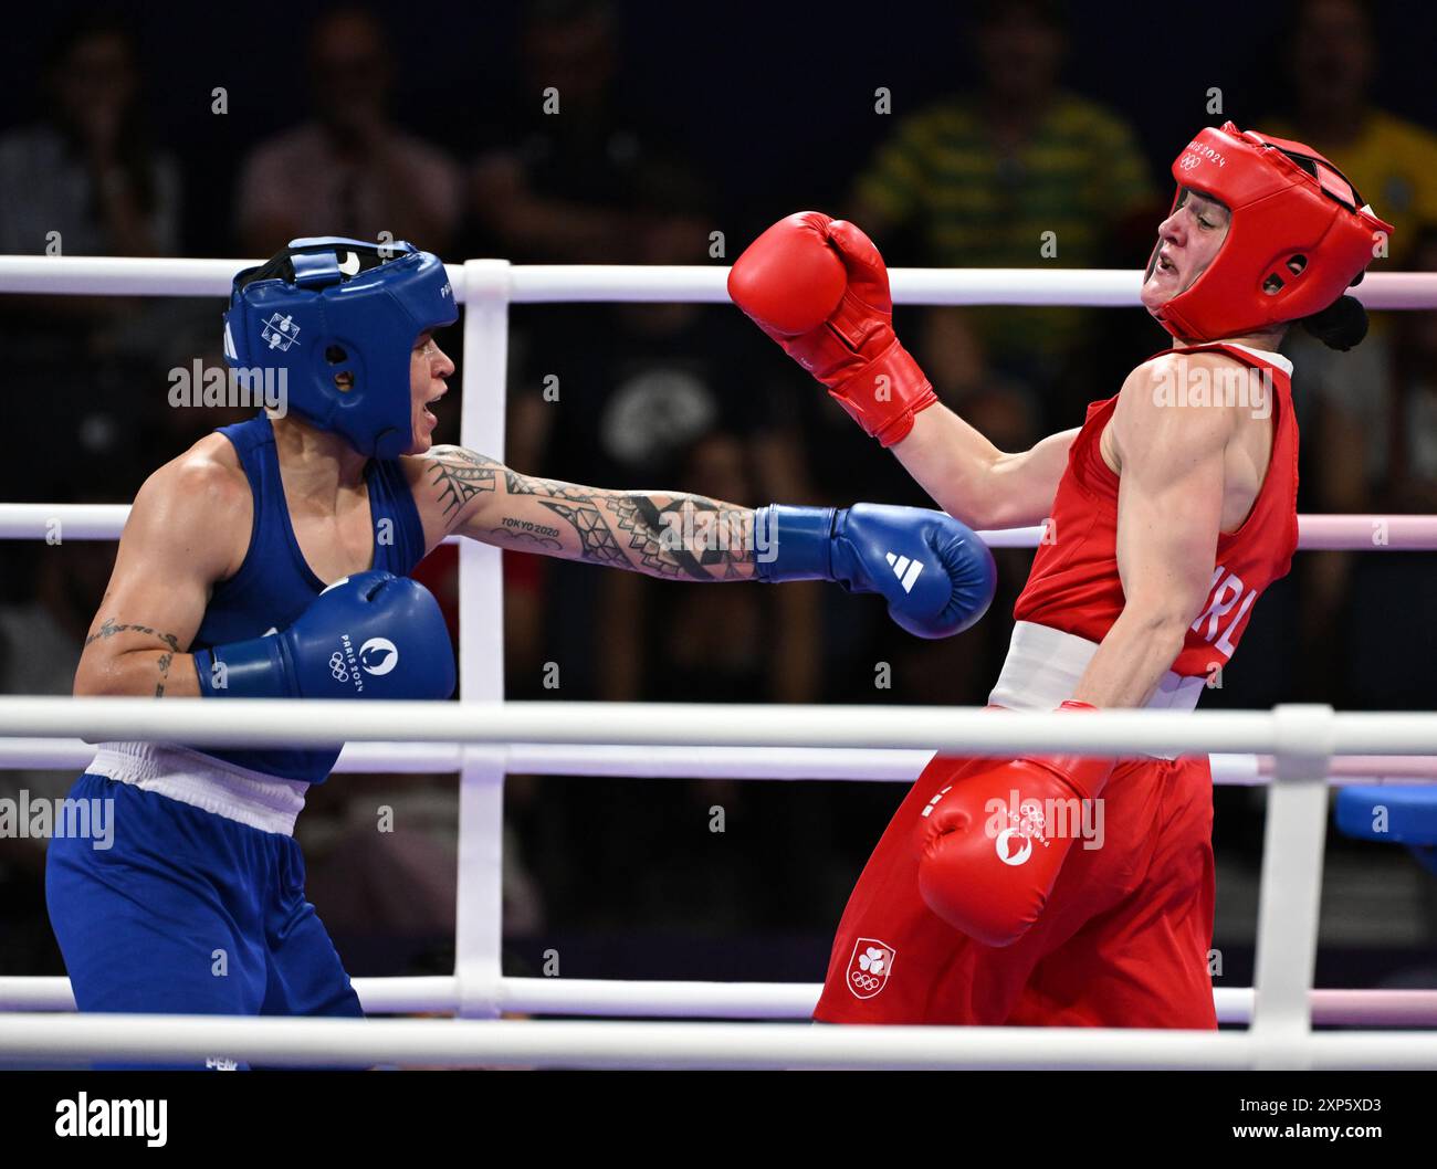
POLYGON ((336 580, 282 633, 195 651, 204 698, 448 698, 440 605, 387 572, 336 580))

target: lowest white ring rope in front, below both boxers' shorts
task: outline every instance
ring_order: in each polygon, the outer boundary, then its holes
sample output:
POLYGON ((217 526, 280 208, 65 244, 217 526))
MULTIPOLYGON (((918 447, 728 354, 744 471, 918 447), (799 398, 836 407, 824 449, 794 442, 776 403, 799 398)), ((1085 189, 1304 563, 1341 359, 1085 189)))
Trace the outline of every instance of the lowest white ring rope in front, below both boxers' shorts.
POLYGON ((55 1015, 0 1018, 10 1061, 420 1064, 650 1068, 1434 1068, 1437 1033, 1292 1035, 1045 1027, 812 1027, 767 1023, 55 1015))

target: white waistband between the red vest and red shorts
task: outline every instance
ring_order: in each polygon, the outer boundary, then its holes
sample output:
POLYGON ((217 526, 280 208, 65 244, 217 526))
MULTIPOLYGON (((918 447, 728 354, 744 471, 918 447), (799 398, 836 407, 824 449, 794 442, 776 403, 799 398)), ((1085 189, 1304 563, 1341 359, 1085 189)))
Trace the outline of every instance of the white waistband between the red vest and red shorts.
MULTIPOLYGON (((1010 711, 1050 711, 1073 697, 1098 643, 1073 633, 1020 620, 1013 626, 1003 672, 989 695, 994 707, 1010 711)), ((1207 686, 1206 678, 1184 678, 1171 669, 1158 679, 1147 701, 1150 711, 1191 711, 1207 686)), ((1157 758, 1175 758, 1170 753, 1151 753, 1157 758)))

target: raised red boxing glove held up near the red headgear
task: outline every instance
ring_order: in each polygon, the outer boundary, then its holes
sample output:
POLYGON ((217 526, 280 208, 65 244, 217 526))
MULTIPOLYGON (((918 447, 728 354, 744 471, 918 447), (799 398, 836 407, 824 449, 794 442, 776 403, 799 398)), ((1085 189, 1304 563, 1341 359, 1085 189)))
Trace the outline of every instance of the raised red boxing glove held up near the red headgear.
POLYGON ((884 447, 938 401, 894 336, 884 257, 854 224, 819 211, 779 220, 729 271, 729 296, 884 447))

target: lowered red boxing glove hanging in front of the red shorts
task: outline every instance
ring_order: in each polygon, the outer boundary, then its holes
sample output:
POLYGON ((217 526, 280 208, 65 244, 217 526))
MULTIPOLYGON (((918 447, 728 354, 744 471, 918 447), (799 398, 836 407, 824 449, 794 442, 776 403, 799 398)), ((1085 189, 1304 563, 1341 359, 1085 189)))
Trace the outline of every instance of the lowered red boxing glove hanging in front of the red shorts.
MULTIPOLYGON (((1063 702, 1061 711, 1091 711, 1063 702)), ((923 810, 918 890, 954 929, 1007 946, 1038 921, 1115 760, 1050 755, 966 774, 923 810)), ((935 758, 928 767, 966 765, 935 758)))

